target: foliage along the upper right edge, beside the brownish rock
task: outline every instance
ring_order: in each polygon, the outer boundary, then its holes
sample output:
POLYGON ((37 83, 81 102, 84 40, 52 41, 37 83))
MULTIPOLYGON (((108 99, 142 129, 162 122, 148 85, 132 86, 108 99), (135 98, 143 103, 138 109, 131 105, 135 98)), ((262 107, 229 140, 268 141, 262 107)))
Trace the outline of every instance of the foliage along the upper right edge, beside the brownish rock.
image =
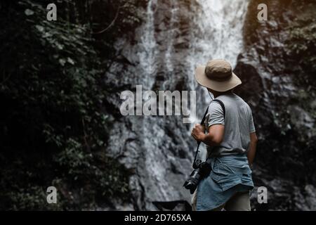
POLYGON ((298 86, 304 87, 297 93, 298 105, 316 118, 315 108, 311 107, 316 97, 316 4, 305 1, 305 4, 297 7, 296 18, 287 27, 289 37, 285 44, 289 49, 289 68, 294 68, 298 86))

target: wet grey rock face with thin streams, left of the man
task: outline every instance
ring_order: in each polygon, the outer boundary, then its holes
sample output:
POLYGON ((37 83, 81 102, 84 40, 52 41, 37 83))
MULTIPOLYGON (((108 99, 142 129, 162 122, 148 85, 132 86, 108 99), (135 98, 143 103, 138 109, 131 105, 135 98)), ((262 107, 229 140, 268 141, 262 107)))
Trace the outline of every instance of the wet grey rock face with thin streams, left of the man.
POLYGON ((131 202, 124 207, 114 203, 116 210, 157 210, 152 204, 157 201, 190 203, 190 193, 182 187, 192 170, 190 124, 180 116, 123 117, 119 108, 121 91, 136 91, 136 85, 143 91, 190 90, 183 64, 190 51, 193 7, 193 1, 148 1, 134 39, 119 37, 115 44, 117 60, 104 81, 114 120, 107 151, 131 171, 131 202))

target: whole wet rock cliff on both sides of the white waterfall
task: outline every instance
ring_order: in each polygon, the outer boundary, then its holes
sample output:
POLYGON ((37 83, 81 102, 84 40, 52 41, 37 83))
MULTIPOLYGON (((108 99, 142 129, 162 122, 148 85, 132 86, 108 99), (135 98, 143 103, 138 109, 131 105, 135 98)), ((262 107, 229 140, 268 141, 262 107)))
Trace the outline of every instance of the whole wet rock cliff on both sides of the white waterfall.
MULTIPOLYGON (((268 188, 268 204, 257 203, 256 189, 251 204, 254 210, 315 210, 315 114, 311 113, 315 97, 302 97, 305 86, 296 77, 305 70, 289 60, 284 44, 297 7, 292 1, 266 2, 269 14, 264 23, 256 19, 261 2, 249 3, 244 52, 235 68, 243 81, 237 94, 251 105, 260 139, 254 183, 256 188, 268 188)), ((152 202, 159 207, 165 203, 171 207, 167 203, 178 200, 190 203, 189 191, 182 185, 192 171, 195 148, 190 125, 183 124, 182 117, 123 117, 121 91, 135 91, 136 85, 143 85, 143 91, 197 89, 197 108, 205 108, 205 96, 192 80, 192 67, 195 56, 218 56, 207 40, 193 45, 208 26, 197 25, 202 9, 196 1, 149 0, 140 10, 143 25, 136 27, 133 38, 117 37, 117 58, 110 62, 104 80, 109 91, 106 108, 114 121, 107 151, 131 172, 131 200, 113 203, 110 208, 116 210, 157 210, 152 202)), ((202 117, 200 111, 197 117, 202 117)))

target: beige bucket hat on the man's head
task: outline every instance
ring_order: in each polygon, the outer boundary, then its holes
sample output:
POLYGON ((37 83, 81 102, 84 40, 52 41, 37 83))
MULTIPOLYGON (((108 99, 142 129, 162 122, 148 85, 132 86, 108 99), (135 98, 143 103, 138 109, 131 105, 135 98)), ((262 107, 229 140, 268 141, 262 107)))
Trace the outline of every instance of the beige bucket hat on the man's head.
POLYGON ((209 60, 195 70, 195 79, 202 86, 214 91, 224 92, 235 88, 242 81, 232 72, 232 66, 223 59, 209 60))

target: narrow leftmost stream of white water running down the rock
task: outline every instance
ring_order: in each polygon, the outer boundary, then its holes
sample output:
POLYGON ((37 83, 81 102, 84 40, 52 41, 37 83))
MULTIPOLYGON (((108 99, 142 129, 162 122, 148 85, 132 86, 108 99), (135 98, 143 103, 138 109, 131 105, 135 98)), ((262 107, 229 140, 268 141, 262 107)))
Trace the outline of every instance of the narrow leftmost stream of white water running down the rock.
MULTIPOLYGON (((151 90, 155 81, 157 73, 157 56, 162 53, 158 51, 157 40, 155 39, 155 29, 154 29, 154 8, 157 7, 159 2, 157 0, 150 0, 147 4, 147 19, 145 23, 145 28, 143 30, 143 36, 141 37, 141 46, 143 51, 140 52, 140 68, 143 69, 144 74, 142 75, 143 89, 151 90)), ((175 15, 172 13, 171 16, 173 23, 175 22, 175 15)), ((173 33, 169 33, 169 39, 173 38, 173 33)), ((165 53, 166 65, 169 66, 169 71, 173 70, 171 65, 171 53, 172 44, 169 44, 169 51, 165 53)), ((145 99, 143 99, 145 100, 145 99)), ((159 127, 157 120, 154 117, 143 117, 140 121, 140 133, 141 136, 145 137, 141 140, 142 146, 144 146, 143 157, 143 167, 147 168, 147 189, 150 191, 154 186, 159 186, 157 188, 157 193, 152 193, 152 200, 159 196, 158 198, 170 200, 170 193, 166 191, 169 189, 168 182, 164 181, 165 174, 162 172, 162 168, 166 168, 168 163, 166 160, 157 160, 161 157, 161 143, 164 141, 164 131, 162 127, 159 127), (152 134, 148 136, 148 134, 152 134)))

